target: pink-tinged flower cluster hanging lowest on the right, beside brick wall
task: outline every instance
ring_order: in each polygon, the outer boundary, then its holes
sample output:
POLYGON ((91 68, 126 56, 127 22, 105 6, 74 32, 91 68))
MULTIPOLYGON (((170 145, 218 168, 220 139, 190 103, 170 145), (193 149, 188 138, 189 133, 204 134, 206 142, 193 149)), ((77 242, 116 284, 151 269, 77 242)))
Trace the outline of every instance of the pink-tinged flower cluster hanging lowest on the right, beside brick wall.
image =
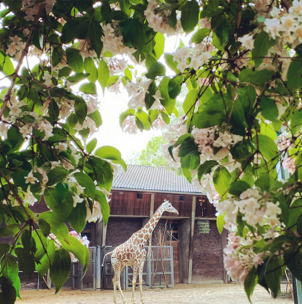
POLYGON ((232 280, 243 283, 252 267, 257 268, 259 264, 263 263, 263 253, 254 252, 251 238, 245 240, 232 232, 228 235, 227 240, 227 246, 223 250, 224 268, 232 280))

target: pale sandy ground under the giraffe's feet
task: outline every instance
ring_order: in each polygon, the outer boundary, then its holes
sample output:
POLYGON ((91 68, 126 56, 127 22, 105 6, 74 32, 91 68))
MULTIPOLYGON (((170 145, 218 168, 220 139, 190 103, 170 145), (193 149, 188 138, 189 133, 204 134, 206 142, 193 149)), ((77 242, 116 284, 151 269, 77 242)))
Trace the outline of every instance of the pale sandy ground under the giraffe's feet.
MULTIPOLYGON (((131 290, 123 291, 127 303, 131 303, 131 290)), ((143 291, 145 304, 248 304, 243 285, 211 284, 188 285, 175 284, 174 288, 145 288, 143 291)), ((17 304, 111 304, 113 290, 81 291, 60 290, 54 295, 54 290, 40 289, 22 290, 20 295, 23 301, 17 299, 17 304)), ((135 303, 140 304, 139 290, 135 291, 135 303)), ((117 290, 117 303, 122 299, 117 290)), ((272 299, 269 293, 261 286, 256 286, 252 295, 253 304, 293 304, 291 299, 272 299)))

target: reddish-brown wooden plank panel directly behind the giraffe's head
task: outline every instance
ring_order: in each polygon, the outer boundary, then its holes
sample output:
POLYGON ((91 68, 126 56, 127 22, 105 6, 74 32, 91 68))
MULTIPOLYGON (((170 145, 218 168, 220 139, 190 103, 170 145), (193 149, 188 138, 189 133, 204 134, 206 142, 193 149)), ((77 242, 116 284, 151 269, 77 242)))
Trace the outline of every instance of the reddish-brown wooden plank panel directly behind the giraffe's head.
POLYGON ((154 196, 154 212, 164 202, 164 199, 172 203, 173 207, 179 212, 179 215, 170 212, 164 212, 162 216, 169 217, 191 217, 192 213, 192 196, 184 196, 184 201, 179 201, 179 194, 155 194, 154 196))

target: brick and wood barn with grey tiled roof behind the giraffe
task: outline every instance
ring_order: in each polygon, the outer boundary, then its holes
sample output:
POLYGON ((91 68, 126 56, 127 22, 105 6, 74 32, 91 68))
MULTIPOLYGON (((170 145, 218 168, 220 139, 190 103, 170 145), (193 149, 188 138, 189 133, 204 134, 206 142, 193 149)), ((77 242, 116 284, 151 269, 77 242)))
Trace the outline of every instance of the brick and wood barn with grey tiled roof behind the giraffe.
MULTIPOLYGON (((225 231, 219 234, 216 210, 205 193, 196 190, 183 175, 167 168, 128 165, 126 172, 114 178, 111 193, 110 217, 106 227, 102 221, 87 223, 82 231, 82 236, 86 235, 90 240, 91 267, 81 281, 81 265, 73 263, 63 288, 106 288, 106 278, 100 267, 105 251, 111 251, 112 247, 125 242, 144 226, 164 199, 172 203, 179 215, 163 213, 152 234, 152 245, 156 243, 156 231, 168 223, 173 236, 170 242, 173 250, 173 284, 227 282, 223 269, 223 248, 227 234, 225 231)), ((41 202, 33 206, 33 211, 41 213, 48 211, 48 208, 45 202, 41 202)), ((22 272, 19 276, 22 289, 46 288, 42 280, 38 283, 37 273, 30 282, 23 278, 22 272)), ((112 276, 107 280, 110 284, 112 276)))

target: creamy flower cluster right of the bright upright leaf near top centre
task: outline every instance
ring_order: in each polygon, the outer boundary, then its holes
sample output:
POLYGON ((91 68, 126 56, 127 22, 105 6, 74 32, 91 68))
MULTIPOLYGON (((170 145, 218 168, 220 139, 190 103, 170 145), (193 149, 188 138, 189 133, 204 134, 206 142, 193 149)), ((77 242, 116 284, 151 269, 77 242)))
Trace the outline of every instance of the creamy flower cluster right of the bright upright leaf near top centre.
POLYGON ((203 64, 206 64, 212 57, 213 46, 205 42, 196 44, 193 47, 181 47, 174 53, 174 60, 178 63, 177 68, 183 73, 186 68, 193 68, 197 71, 203 64))

